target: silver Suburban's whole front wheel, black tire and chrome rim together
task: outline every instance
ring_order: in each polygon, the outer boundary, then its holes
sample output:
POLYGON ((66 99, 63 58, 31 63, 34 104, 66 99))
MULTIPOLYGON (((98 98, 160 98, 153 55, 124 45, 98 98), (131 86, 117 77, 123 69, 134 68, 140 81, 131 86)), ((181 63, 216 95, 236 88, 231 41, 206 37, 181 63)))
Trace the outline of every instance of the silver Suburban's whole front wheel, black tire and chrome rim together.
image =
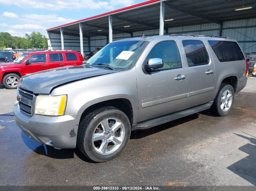
POLYGON ((131 125, 125 113, 115 107, 103 107, 81 121, 77 145, 92 161, 105 162, 121 154, 130 134, 131 125))

